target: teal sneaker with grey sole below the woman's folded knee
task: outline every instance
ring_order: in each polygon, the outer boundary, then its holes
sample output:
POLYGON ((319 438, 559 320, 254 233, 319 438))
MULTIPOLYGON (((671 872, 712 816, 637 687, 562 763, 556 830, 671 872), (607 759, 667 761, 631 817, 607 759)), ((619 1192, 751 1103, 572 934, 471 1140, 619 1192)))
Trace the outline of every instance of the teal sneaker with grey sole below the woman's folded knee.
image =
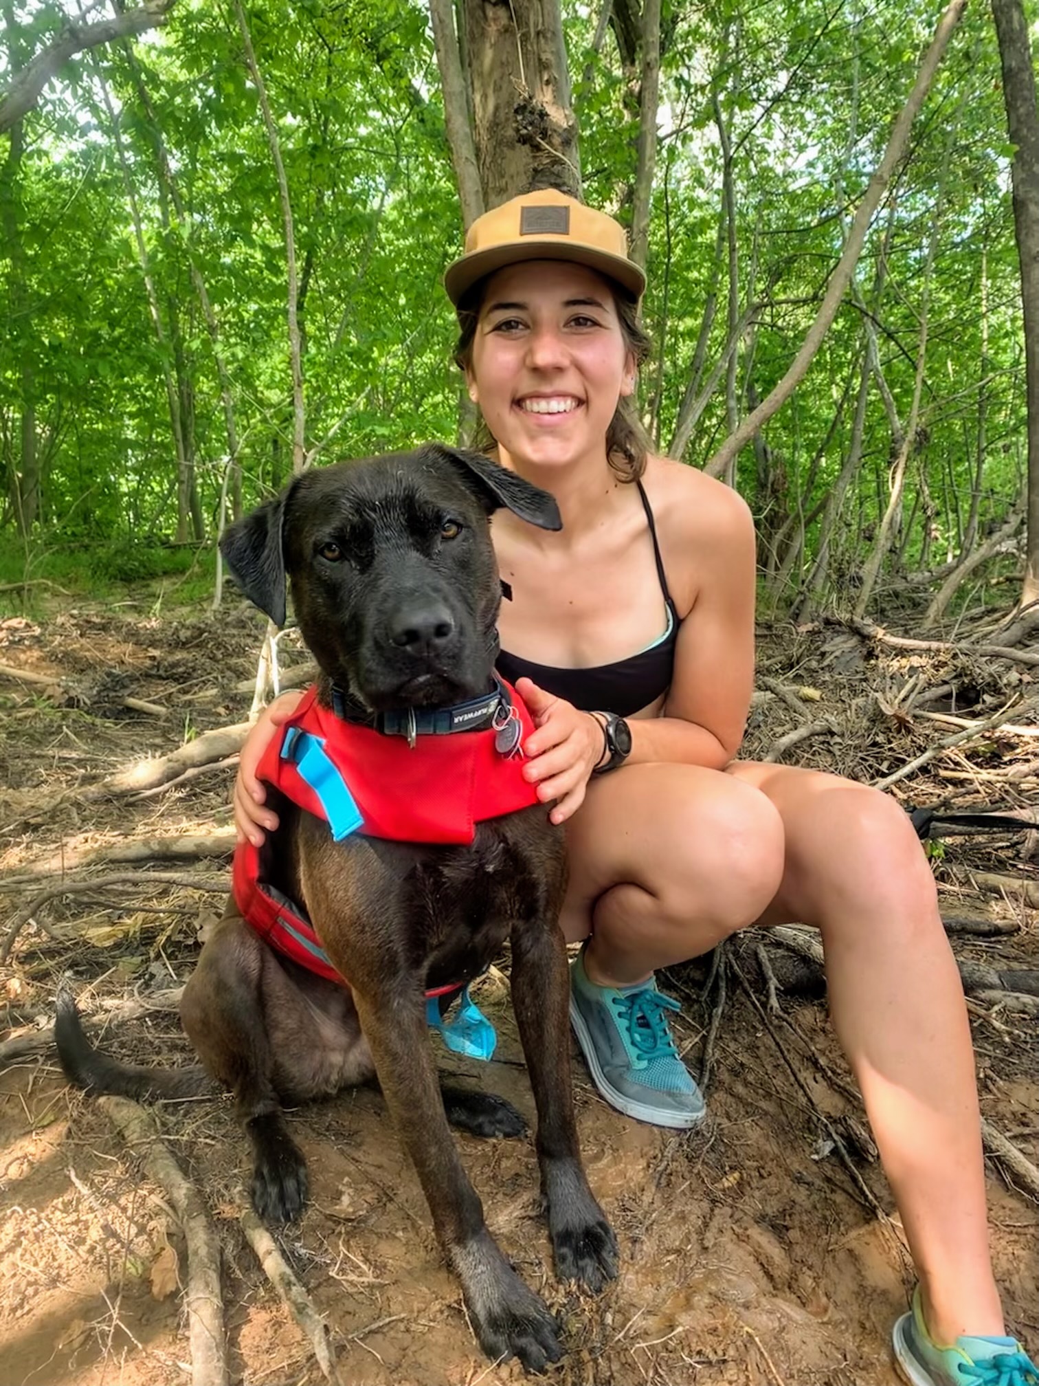
POLYGON ((686 1130, 704 1120, 700 1088, 679 1059, 668 1028, 677 1001, 637 987, 597 987, 585 972, 582 948, 571 965, 569 1019, 603 1096, 625 1116, 686 1130))

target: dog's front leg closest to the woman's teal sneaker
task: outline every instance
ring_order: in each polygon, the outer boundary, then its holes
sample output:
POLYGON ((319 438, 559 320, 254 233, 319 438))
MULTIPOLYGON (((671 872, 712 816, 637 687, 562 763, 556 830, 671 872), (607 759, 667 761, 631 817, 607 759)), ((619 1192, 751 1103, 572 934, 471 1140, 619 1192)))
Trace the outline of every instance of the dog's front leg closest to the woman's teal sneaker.
POLYGON ((569 1076, 569 974, 556 915, 513 929, 513 1009, 538 1106, 538 1160, 556 1274, 598 1292, 616 1275, 616 1238, 580 1163, 569 1076))

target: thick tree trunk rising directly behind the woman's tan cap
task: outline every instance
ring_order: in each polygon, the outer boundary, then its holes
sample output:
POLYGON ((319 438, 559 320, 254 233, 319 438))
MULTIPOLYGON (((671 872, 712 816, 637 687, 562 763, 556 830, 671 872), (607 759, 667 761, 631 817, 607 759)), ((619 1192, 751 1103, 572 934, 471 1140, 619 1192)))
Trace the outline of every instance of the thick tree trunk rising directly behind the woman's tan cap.
POLYGON ((558 0, 465 0, 465 50, 485 207, 539 187, 580 197, 558 0))

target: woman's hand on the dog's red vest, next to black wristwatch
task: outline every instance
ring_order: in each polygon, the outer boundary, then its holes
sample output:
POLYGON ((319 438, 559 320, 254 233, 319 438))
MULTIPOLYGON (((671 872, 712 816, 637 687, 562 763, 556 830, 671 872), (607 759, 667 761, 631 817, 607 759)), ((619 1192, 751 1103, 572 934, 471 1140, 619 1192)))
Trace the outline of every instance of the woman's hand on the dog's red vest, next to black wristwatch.
POLYGON ((551 822, 565 823, 583 804, 589 776, 603 760, 603 723, 592 712, 580 712, 565 699, 539 689, 533 679, 520 679, 515 690, 535 725, 524 742, 529 760, 524 778, 538 786, 542 802, 556 800, 551 822))

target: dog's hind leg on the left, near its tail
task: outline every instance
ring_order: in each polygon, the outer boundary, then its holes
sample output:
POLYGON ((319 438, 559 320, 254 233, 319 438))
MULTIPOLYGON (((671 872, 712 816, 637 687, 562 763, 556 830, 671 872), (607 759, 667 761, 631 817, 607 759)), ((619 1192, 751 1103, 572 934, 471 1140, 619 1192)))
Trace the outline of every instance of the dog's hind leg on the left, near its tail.
MULTIPOLYGON (((272 959, 233 904, 184 987, 180 1019, 198 1058, 234 1094, 252 1145, 252 1203, 272 1222, 291 1222, 306 1203, 306 1160, 288 1134, 274 1089, 274 1059, 263 1015, 272 959)), ((277 966, 277 965, 274 965, 277 966)))

